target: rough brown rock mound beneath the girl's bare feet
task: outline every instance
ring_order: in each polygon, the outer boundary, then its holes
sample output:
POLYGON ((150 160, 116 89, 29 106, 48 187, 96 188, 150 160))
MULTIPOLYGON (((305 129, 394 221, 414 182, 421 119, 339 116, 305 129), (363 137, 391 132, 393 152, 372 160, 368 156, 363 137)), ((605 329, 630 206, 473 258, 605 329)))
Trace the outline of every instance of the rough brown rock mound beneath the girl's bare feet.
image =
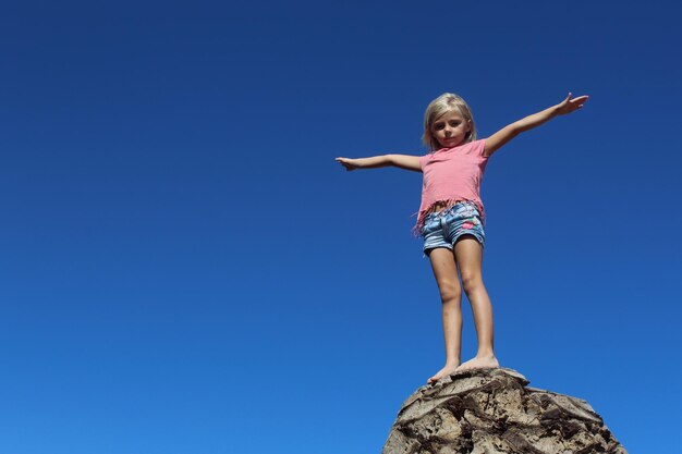
POLYGON ((628 454, 583 400, 512 369, 456 373, 403 404, 382 454, 628 454))

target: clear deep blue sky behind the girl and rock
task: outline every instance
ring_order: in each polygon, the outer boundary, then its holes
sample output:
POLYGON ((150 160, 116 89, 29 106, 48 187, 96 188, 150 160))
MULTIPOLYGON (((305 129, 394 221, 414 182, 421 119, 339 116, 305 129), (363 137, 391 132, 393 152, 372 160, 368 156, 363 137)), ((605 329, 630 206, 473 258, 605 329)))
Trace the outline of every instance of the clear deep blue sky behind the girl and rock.
MULTIPOLYGON (((489 162, 503 366, 679 450, 682 7, 22 2, 0 14, 0 453, 379 452, 442 366, 426 105, 489 162)), ((465 356, 475 348, 466 314, 465 356)))

